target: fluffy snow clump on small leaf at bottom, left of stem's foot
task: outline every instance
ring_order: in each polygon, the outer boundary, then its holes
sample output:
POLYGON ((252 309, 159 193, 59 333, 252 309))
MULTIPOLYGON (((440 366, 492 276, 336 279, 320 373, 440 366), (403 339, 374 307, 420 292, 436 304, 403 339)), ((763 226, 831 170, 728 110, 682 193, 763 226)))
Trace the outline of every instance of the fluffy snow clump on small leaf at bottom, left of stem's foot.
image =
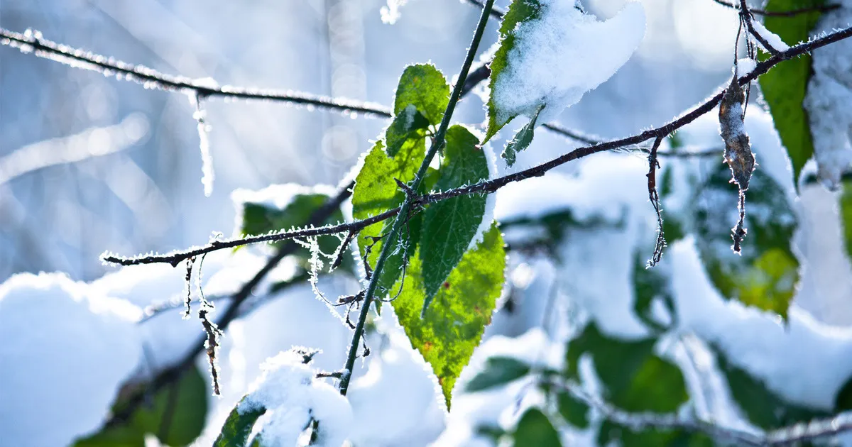
POLYGON ((261 436, 270 445, 298 445, 311 419, 319 422, 314 445, 342 445, 352 425, 352 408, 337 388, 315 378, 296 351, 280 352, 261 366, 263 373, 238 411, 258 407, 269 415, 261 436))

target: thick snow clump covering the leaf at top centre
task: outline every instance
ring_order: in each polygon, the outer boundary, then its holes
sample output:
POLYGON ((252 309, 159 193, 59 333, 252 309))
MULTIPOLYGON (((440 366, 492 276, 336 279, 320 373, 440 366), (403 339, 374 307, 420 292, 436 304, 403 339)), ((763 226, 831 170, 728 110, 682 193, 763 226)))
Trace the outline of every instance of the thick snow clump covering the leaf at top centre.
POLYGON ((540 17, 521 23, 500 73, 492 100, 498 123, 509 117, 538 117, 542 123, 577 103, 625 65, 645 36, 645 10, 630 2, 612 19, 600 21, 567 0, 538 0, 540 17))

